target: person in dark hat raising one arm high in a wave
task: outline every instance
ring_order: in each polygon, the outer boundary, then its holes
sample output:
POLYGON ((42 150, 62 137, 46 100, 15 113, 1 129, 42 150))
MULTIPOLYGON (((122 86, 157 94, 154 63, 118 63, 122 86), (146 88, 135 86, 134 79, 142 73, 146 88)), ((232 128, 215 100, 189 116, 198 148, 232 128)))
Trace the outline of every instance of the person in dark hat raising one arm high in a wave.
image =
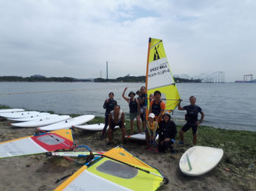
POLYGON ((123 91, 122 93, 122 98, 125 99, 125 101, 128 102, 129 104, 129 108, 130 108, 130 120, 131 120, 131 134, 134 134, 134 118, 136 118, 137 120, 137 128, 138 128, 138 131, 139 133, 141 133, 141 129, 140 129, 140 126, 141 126, 141 123, 140 123, 140 109, 139 109, 139 101, 135 98, 135 93, 133 91, 131 91, 128 96, 130 98, 127 98, 125 96, 125 91, 128 89, 128 87, 125 87, 125 90, 123 91))

